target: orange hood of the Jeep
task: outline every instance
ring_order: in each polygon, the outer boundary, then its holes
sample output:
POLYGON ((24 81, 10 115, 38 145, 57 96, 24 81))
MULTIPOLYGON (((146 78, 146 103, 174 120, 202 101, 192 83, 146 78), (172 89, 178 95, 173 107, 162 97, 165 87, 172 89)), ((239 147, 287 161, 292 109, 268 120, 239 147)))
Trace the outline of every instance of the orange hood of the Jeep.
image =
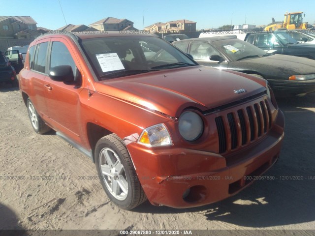
POLYGON ((265 80, 239 72, 189 66, 100 81, 95 89, 105 95, 178 117, 187 107, 208 110, 252 96, 264 91, 265 84, 265 80), (245 89, 246 92, 235 93, 237 89, 245 89))

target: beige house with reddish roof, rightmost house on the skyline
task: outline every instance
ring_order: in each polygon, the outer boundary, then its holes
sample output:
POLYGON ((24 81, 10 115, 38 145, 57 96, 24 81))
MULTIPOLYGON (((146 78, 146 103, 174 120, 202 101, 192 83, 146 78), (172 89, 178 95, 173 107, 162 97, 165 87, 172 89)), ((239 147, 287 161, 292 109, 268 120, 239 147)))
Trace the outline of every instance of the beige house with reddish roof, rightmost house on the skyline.
POLYGON ((158 22, 145 27, 145 30, 151 33, 175 33, 175 32, 193 32, 196 31, 196 22, 189 20, 168 21, 166 23, 158 22))

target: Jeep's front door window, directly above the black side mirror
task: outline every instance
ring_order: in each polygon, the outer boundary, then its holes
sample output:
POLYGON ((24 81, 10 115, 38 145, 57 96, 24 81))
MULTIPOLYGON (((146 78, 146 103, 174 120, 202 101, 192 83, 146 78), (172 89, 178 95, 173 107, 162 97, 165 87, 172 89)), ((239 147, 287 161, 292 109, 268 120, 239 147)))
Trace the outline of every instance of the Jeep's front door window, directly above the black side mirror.
POLYGON ((69 50, 62 42, 54 41, 51 48, 50 68, 59 65, 70 65, 73 74, 75 73, 75 63, 69 50))

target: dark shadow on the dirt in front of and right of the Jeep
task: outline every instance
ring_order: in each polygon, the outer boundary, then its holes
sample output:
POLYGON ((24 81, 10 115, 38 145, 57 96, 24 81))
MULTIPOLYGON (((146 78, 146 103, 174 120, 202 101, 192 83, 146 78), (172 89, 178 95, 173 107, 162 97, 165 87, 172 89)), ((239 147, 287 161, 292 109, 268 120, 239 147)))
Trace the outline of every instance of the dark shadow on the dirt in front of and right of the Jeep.
POLYGON ((255 228, 314 221, 314 101, 315 94, 278 101, 286 123, 280 159, 264 174, 274 177, 273 180, 256 180, 239 194, 204 207, 174 209, 154 207, 146 202, 134 211, 157 214, 195 212, 209 221, 255 228))

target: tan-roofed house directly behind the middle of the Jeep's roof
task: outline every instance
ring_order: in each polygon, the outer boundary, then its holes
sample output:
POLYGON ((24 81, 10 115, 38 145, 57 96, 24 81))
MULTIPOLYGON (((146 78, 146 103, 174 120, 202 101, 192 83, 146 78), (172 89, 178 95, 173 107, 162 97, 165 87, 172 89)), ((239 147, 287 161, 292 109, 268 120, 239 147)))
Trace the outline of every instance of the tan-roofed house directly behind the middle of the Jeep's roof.
POLYGON ((89 25, 100 31, 119 31, 119 30, 138 30, 133 27, 133 22, 127 19, 117 19, 114 17, 107 17, 96 21, 89 25))

